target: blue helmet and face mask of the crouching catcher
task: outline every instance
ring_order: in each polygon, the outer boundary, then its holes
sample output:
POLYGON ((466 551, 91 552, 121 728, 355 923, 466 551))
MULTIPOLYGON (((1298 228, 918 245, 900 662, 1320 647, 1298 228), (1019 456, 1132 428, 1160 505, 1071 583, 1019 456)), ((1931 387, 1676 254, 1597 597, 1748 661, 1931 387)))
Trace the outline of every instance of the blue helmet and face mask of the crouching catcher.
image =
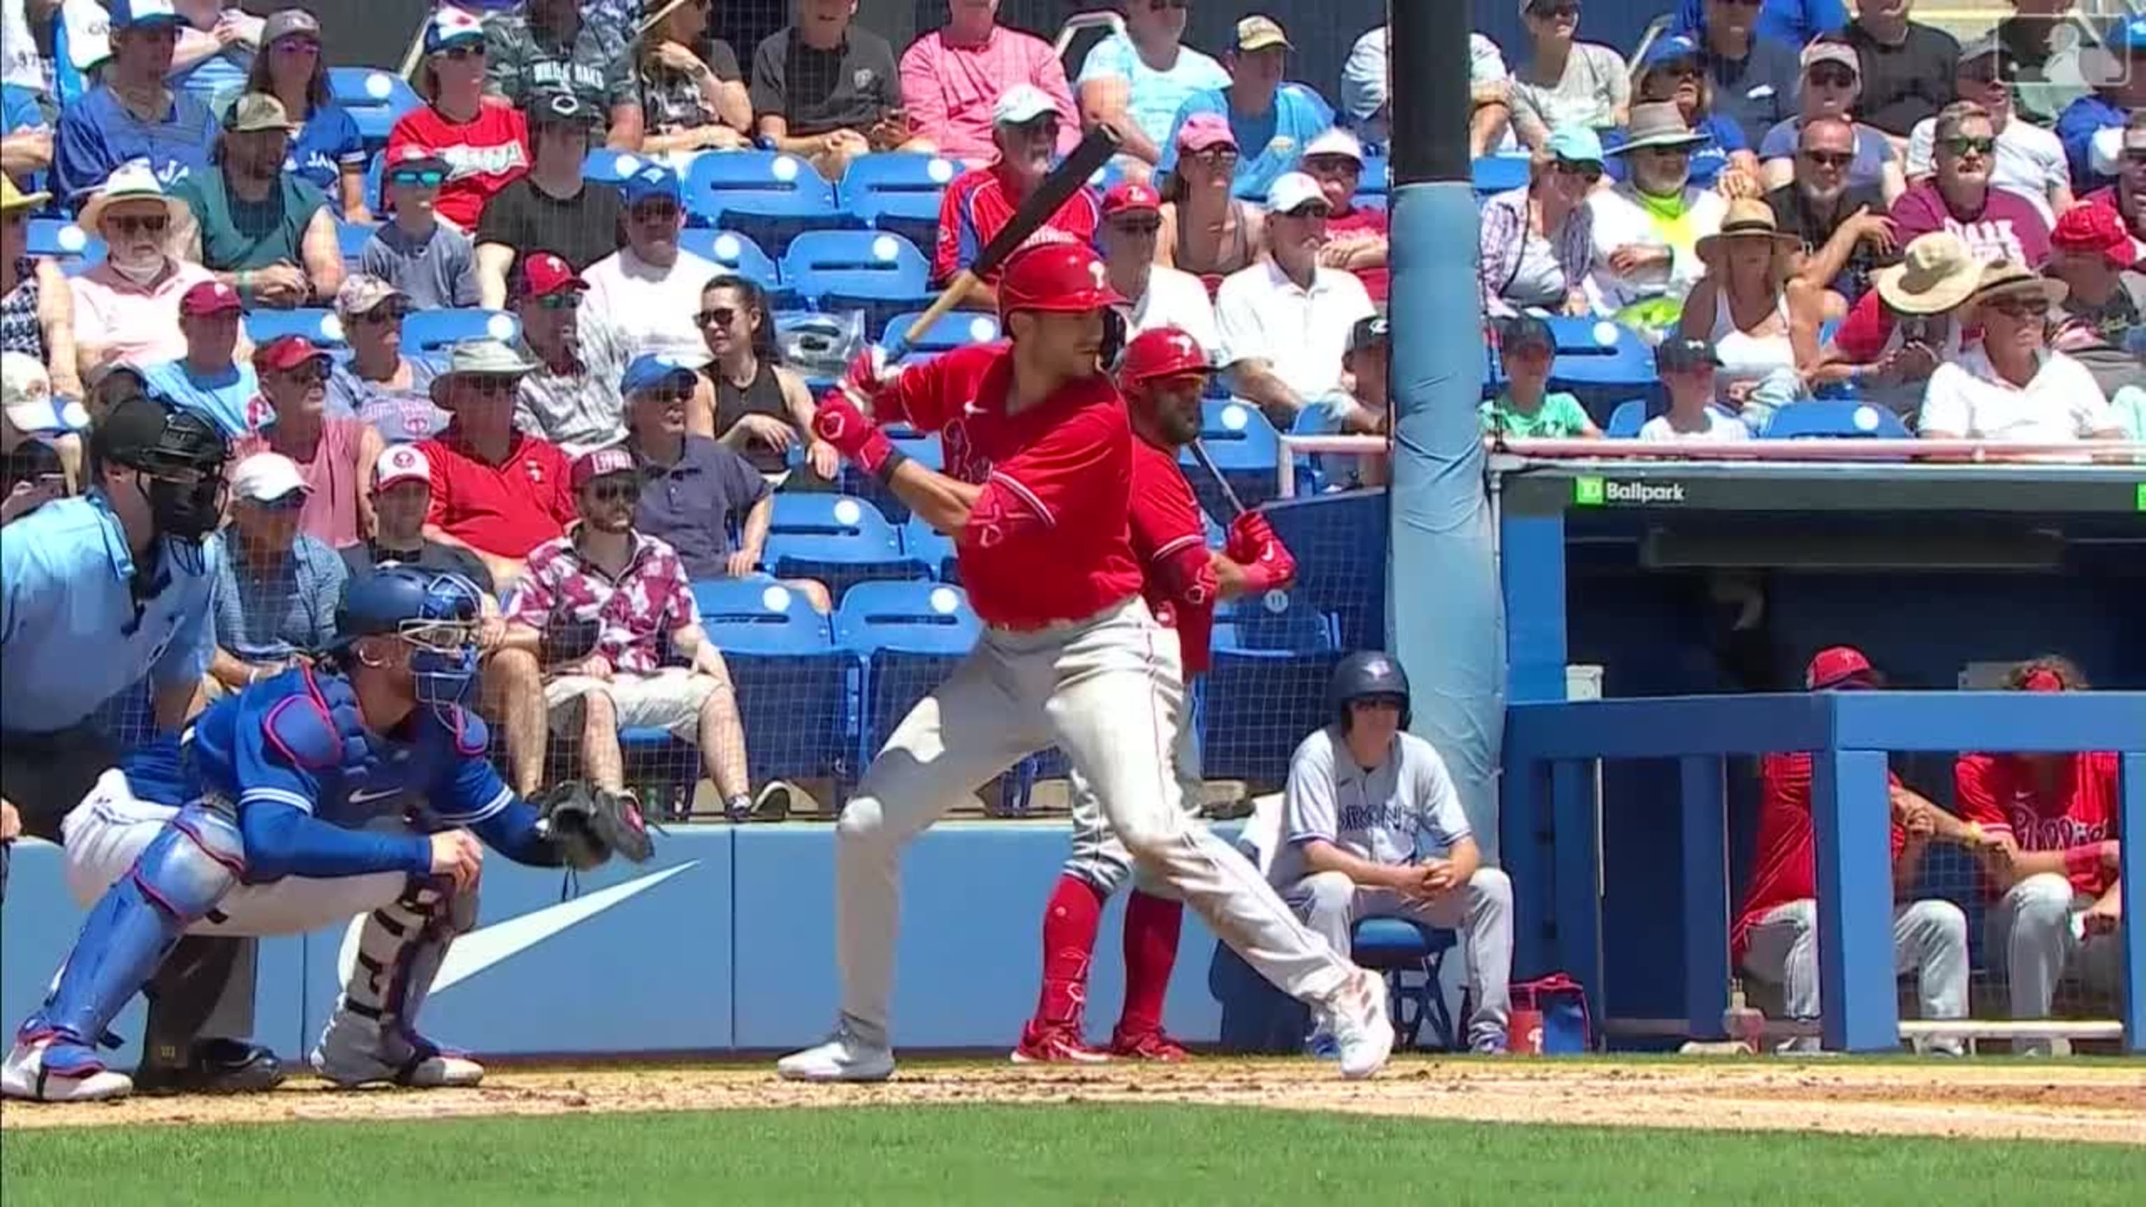
POLYGON ((352 578, 335 608, 335 631, 348 646, 358 638, 395 636, 414 646, 410 674, 421 704, 459 704, 476 679, 476 621, 483 595, 459 573, 386 565, 352 578))

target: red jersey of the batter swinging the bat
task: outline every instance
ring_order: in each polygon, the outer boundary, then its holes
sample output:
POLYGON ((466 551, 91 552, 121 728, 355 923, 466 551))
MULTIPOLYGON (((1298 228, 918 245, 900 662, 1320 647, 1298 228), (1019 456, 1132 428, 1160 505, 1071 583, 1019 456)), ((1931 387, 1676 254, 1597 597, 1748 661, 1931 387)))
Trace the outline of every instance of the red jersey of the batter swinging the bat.
POLYGON ((1006 415, 1013 350, 972 344, 910 365, 878 419, 938 432, 946 475, 981 485, 955 535, 976 614, 1009 629, 1079 621, 1140 593, 1127 530, 1133 430, 1103 374, 1006 415))

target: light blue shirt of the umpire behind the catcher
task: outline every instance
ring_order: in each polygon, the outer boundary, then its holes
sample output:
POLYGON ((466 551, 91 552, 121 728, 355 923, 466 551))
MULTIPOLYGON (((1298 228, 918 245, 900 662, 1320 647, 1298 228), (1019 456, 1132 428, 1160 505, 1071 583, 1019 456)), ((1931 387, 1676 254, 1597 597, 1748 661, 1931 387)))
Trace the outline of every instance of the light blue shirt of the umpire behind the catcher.
POLYGON ((0 539, 0 730, 82 724, 142 677, 157 687, 208 674, 210 595, 221 539, 197 571, 165 552, 139 612, 133 550, 103 492, 47 503, 0 539))

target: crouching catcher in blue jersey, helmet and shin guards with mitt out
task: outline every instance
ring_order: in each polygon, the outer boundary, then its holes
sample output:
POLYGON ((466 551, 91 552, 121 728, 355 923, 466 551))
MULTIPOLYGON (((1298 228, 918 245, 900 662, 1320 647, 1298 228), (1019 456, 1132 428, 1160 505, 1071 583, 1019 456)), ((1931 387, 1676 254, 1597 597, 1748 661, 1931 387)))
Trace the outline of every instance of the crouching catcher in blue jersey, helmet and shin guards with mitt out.
POLYGON ((414 1029, 449 945, 476 921, 483 846, 594 868, 614 853, 644 861, 652 842, 622 797, 567 786, 539 812, 500 782, 464 707, 479 616, 466 578, 382 569, 343 593, 322 666, 264 679, 105 771, 62 823, 69 887, 97 904, 0 1063, 0 1093, 131 1093, 99 1042, 180 934, 300 934, 358 913, 358 958, 313 1070, 341 1087, 483 1078, 414 1029))

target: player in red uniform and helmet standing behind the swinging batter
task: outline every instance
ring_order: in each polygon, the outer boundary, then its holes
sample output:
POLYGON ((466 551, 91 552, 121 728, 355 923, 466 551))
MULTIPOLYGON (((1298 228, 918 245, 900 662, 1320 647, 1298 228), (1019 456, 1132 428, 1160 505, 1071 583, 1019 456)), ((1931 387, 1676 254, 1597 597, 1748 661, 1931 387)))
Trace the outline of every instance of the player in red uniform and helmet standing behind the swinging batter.
MULTIPOLYGON (((1155 619, 1178 631, 1178 655, 1189 685, 1208 668, 1208 629, 1215 601, 1288 586, 1296 561, 1266 518, 1247 511, 1230 524, 1223 550, 1208 550, 1200 500, 1178 468, 1178 449, 1200 438, 1200 393, 1206 389, 1206 350, 1176 326, 1142 331, 1125 348, 1118 384, 1133 423, 1133 556, 1140 595, 1155 619)), ((1185 805, 1200 803, 1200 747, 1193 728, 1178 728, 1174 771, 1185 805)), ((1073 777, 1073 857, 1067 859, 1049 904, 1043 906, 1043 994, 1037 1016, 1021 1031, 1013 1059, 1101 1061, 1082 1042, 1082 1005, 1088 1001, 1088 962, 1103 902, 1133 881, 1125 844, 1112 838, 1088 782, 1073 777)), ((1185 1048, 1163 1033, 1163 994, 1178 956, 1185 904, 1163 896, 1146 876, 1125 904, 1125 1009, 1109 1037, 1109 1055, 1182 1061, 1185 1048)))

